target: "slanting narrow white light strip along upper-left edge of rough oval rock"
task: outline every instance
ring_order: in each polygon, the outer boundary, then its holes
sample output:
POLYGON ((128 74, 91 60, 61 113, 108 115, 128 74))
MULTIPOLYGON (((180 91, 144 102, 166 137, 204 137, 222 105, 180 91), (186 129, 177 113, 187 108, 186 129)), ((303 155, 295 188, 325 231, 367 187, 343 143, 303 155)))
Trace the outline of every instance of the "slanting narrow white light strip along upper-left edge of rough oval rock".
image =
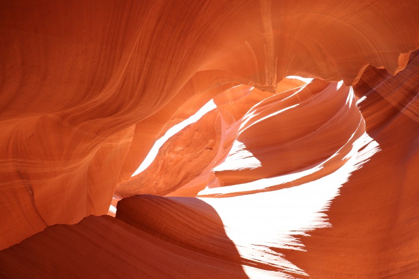
POLYGON ((214 103, 213 99, 211 99, 204 106, 202 106, 193 116, 191 116, 190 118, 188 118, 188 119, 182 121, 181 123, 176 124, 172 128, 170 128, 163 137, 161 137, 160 139, 158 139, 154 143, 153 147, 148 152, 148 154, 145 157, 144 161, 140 164, 140 166, 138 167, 138 169, 135 171, 135 173, 131 177, 138 175, 139 173, 141 173, 142 171, 144 171, 145 169, 148 168, 148 166, 152 163, 152 161, 154 160, 155 156, 159 152, 160 147, 162 147, 162 145, 170 137, 172 137, 176 133, 180 132, 186 126, 188 126, 188 125, 190 125, 192 123, 195 123, 203 115, 205 115, 206 113, 208 113, 209 111, 211 111, 211 110, 213 110, 215 108, 217 108, 217 105, 214 103))

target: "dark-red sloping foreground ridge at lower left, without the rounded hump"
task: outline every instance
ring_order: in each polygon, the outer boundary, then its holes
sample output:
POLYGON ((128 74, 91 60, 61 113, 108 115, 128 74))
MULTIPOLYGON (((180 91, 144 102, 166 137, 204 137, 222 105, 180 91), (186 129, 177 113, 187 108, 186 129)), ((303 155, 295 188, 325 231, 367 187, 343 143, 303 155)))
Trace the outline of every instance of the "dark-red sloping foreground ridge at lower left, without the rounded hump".
MULTIPOLYGON (((234 254, 224 239, 225 251, 234 254)), ((0 259, 6 278, 246 278, 239 263, 180 248, 107 215, 48 227, 0 259)))

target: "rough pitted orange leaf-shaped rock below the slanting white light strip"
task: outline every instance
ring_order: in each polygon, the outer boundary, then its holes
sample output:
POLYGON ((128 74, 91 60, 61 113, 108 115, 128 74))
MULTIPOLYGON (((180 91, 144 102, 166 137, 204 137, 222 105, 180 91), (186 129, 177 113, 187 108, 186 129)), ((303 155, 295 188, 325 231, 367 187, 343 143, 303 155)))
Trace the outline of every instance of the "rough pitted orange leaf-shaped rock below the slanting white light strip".
POLYGON ((217 155, 220 141, 221 118, 214 111, 167 140, 148 168, 118 184, 116 194, 164 196, 179 189, 209 165, 217 155))

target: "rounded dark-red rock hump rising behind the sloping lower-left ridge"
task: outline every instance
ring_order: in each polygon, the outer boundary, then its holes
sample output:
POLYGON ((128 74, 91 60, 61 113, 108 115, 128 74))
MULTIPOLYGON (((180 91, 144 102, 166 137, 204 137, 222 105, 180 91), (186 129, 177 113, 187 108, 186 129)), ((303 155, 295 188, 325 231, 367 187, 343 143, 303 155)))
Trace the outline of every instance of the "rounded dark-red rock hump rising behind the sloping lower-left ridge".
POLYGON ((217 211, 191 197, 138 195, 118 202, 116 218, 177 247, 214 260, 208 278, 247 278, 217 211), (227 268, 227 269, 225 269, 227 268), (223 270, 223 271, 222 271, 223 270))

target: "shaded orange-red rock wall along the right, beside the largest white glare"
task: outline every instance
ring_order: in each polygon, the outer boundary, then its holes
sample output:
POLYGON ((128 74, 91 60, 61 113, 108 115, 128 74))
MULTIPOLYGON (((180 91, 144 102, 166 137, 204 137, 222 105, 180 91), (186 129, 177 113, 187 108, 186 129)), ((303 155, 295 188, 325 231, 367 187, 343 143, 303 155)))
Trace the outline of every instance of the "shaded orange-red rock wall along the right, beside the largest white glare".
MULTIPOLYGON (((303 240, 307 253, 287 255, 313 278, 414 278, 419 274, 415 233, 419 177, 412 171, 419 159, 419 124, 369 83, 374 75, 375 81, 387 85, 379 89, 399 95, 410 78, 417 77, 415 60, 395 77, 370 68, 354 88, 358 96, 366 97, 359 103, 360 110, 381 151, 340 189, 327 213, 333 227, 310 233, 303 240)), ((417 94, 417 88, 411 90, 417 94)))

